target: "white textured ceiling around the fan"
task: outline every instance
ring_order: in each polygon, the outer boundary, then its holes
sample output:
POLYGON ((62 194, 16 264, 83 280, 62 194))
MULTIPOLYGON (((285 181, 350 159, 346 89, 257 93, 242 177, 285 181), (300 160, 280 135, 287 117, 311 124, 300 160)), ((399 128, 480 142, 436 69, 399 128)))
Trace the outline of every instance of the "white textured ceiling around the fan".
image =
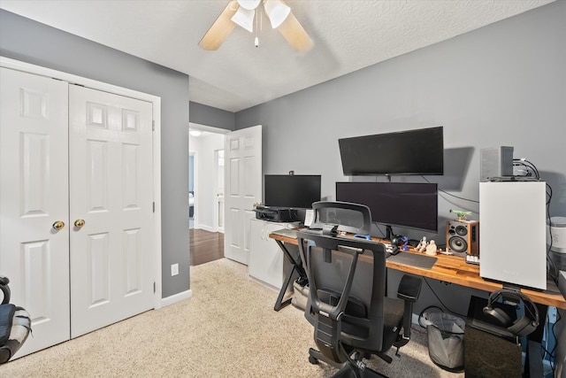
POLYGON ((190 100, 247 109, 554 0, 287 0, 315 42, 291 49, 263 17, 219 50, 197 46, 228 0, 0 0, 0 8, 190 77, 190 100))

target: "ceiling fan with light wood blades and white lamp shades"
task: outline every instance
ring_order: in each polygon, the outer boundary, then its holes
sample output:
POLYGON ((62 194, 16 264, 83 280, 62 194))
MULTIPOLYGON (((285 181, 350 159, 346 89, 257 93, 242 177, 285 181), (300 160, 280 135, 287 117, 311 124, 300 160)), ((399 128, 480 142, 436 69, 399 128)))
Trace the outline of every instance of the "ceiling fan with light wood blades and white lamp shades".
MULTIPOLYGON (((270 19, 272 27, 287 40, 294 50, 306 52, 314 43, 294 17, 291 8, 283 0, 232 0, 214 21, 198 45, 204 50, 218 50, 222 42, 232 33, 236 25, 254 30, 254 18, 257 18, 259 4, 264 4, 264 11, 270 19)), ((257 24, 257 22, 256 22, 257 24)), ((256 26, 257 28, 257 26, 256 26)), ((258 46, 256 36, 256 47, 258 46)))

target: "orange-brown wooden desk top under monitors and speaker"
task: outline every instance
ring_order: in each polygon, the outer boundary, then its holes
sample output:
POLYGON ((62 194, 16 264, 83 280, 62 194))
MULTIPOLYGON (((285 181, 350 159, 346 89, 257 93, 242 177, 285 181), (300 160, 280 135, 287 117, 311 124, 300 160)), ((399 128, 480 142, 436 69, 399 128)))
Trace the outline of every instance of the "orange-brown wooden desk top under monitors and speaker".
MULTIPOLYGON (((283 243, 297 245, 297 240, 292 237, 275 234, 270 234, 269 237, 275 240, 279 240, 283 243)), ((373 240, 382 242, 382 240, 378 238, 373 238, 373 240)), ((411 250, 404 252, 421 254, 420 252, 417 252, 412 248, 411 250)), ((402 272, 417 274, 439 281, 452 282, 465 286, 467 288, 480 289, 488 292, 493 292, 503 287, 501 282, 484 280, 479 276, 479 266, 466 263, 464 258, 443 254, 436 255, 436 258, 438 258, 438 260, 431 269, 423 269, 417 266, 399 264, 393 261, 389 261, 388 259, 386 260, 386 266, 402 272)), ((543 291, 537 289, 521 289, 521 292, 530 297, 533 302, 540 305, 550 305, 566 309, 566 299, 562 297, 562 294, 556 287, 555 282, 553 282, 552 280, 548 280, 547 290, 543 291)))

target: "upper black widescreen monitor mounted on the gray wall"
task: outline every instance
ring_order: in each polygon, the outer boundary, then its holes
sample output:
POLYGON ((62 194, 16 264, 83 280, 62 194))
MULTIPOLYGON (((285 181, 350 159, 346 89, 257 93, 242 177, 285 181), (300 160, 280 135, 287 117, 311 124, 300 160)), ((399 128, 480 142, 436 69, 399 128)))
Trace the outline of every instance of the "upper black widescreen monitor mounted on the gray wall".
POLYGON ((444 174, 443 127, 338 140, 345 175, 444 174))

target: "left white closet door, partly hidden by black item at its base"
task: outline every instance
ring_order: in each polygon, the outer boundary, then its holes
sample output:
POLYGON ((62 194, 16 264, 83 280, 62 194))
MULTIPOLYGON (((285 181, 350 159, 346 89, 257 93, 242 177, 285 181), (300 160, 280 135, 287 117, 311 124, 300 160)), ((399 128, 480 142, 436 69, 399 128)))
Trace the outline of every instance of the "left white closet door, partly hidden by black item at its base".
POLYGON ((67 83, 7 68, 0 83, 0 273, 32 318, 23 356, 70 336, 67 83))

